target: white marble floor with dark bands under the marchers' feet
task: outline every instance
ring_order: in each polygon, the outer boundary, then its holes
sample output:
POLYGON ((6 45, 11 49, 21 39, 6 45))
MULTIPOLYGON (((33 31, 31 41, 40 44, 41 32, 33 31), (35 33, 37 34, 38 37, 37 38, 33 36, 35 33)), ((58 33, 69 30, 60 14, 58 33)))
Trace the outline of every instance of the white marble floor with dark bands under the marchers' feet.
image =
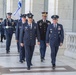
POLYGON ((34 56, 33 56, 33 66, 30 71, 33 73, 29 72, 27 73, 26 69, 26 62, 21 64, 19 62, 19 54, 17 53, 17 48, 16 48, 16 42, 13 37, 12 40, 12 45, 11 45, 11 53, 7 56, 5 53, 5 41, 4 43, 0 43, 0 66, 2 68, 9 68, 10 72, 12 73, 2 73, 0 75, 76 75, 76 71, 67 71, 65 66, 69 66, 69 68, 73 68, 76 70, 76 60, 66 57, 63 55, 64 50, 59 50, 58 56, 57 56, 57 68, 56 70, 59 72, 36 72, 34 73, 33 71, 52 71, 51 69, 51 58, 50 58, 50 48, 47 48, 47 53, 46 53, 46 60, 41 63, 40 62, 40 53, 39 53, 39 46, 36 46, 34 56), (1 46, 2 45, 2 46, 1 46), (4 47, 3 47, 4 46, 4 47), (46 68, 37 68, 37 67, 46 67, 46 68), (19 71, 21 73, 19 73, 19 71), (62 72, 61 72, 62 71, 62 72), (64 71, 64 72, 63 72, 64 71), (17 72, 17 73, 13 73, 17 72))

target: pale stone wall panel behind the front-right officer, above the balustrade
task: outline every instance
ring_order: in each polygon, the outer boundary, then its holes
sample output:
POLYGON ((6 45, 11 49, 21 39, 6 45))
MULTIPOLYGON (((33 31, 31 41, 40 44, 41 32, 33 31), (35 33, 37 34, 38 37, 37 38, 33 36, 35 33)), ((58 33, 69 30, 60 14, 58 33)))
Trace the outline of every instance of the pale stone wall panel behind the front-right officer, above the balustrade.
POLYGON ((58 0, 59 22, 64 25, 65 31, 72 31, 73 0, 58 0))

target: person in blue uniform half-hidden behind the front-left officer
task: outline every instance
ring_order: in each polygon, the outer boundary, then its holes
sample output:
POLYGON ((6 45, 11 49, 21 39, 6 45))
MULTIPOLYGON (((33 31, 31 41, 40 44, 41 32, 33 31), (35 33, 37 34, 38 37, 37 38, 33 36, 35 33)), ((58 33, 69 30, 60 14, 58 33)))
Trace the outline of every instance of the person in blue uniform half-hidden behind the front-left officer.
POLYGON ((26 25, 26 14, 22 14, 21 19, 22 21, 19 21, 16 27, 16 41, 20 53, 20 62, 23 63, 25 61, 25 49, 24 46, 21 47, 20 45, 20 33, 21 33, 22 25, 26 25))

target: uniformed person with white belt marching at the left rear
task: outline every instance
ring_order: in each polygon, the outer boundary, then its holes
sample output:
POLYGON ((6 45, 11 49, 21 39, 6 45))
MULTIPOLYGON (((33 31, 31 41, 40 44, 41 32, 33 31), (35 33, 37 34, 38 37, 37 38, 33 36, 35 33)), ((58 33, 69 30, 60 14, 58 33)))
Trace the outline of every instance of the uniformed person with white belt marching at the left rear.
POLYGON ((4 20, 3 25, 5 27, 5 34, 6 34, 6 53, 10 52, 10 45, 13 35, 13 28, 14 28, 14 20, 11 19, 12 13, 7 13, 7 19, 4 20))

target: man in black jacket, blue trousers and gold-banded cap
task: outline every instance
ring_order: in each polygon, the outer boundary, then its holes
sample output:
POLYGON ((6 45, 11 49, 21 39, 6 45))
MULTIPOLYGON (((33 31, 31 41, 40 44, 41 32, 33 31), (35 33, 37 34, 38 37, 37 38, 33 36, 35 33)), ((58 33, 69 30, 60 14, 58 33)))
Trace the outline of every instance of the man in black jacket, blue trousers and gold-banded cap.
POLYGON ((42 19, 37 22, 39 32, 40 32, 40 55, 41 55, 41 62, 45 59, 46 53, 46 31, 50 21, 47 20, 47 12, 42 12, 42 19))

